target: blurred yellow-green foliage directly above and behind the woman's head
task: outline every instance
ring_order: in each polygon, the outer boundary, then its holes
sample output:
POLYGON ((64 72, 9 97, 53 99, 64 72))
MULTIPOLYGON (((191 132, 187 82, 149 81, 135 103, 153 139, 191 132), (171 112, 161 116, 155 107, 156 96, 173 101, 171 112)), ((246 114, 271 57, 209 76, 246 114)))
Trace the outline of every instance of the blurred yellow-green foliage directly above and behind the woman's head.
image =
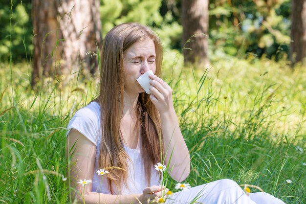
POLYGON ((171 11, 162 16, 162 6, 162 0, 101 0, 103 35, 117 24, 138 22, 153 27, 166 49, 180 49, 182 26, 171 11))

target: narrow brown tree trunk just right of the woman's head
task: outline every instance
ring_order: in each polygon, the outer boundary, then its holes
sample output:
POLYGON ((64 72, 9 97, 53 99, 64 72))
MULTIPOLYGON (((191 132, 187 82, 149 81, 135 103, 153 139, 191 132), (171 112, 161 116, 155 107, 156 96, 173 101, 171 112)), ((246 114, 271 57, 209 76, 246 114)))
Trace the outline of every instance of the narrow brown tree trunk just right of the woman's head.
POLYGON ((208 0, 182 0, 185 64, 208 65, 208 0))

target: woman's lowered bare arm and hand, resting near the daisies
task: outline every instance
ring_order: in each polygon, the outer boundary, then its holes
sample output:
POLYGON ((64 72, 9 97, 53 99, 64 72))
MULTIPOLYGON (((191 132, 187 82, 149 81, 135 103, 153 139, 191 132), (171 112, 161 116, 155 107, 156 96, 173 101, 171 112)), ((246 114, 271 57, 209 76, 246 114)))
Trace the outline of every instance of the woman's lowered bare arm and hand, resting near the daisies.
POLYGON ((103 204, 139 204, 138 201, 146 204, 148 199, 161 196, 161 186, 145 188, 143 194, 109 195, 91 192, 92 183, 86 184, 85 188, 77 183, 80 179, 92 180, 96 157, 96 146, 77 130, 70 130, 67 136, 66 154, 71 157, 67 171, 70 199, 77 203, 83 203, 83 190, 86 204, 97 204, 99 201, 103 204))

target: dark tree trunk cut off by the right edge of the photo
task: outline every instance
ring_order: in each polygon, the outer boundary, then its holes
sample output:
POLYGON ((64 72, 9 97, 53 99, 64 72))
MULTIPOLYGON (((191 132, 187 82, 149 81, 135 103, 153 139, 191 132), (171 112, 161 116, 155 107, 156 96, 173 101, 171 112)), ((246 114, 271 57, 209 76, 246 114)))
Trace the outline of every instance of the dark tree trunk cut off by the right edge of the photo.
POLYGON ((292 0, 290 61, 292 65, 306 57, 306 0, 292 0))

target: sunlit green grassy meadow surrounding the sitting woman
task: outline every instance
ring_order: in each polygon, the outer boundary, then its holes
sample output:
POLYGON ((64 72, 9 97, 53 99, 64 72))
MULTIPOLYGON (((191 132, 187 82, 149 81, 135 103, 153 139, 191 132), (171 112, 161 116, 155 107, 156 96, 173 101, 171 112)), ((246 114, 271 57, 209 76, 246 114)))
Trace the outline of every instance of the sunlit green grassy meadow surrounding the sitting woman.
MULTIPOLYGON (((66 204, 66 125, 97 95, 98 74, 72 74, 65 85, 46 78, 33 91, 30 73, 30 62, 0 63, 0 203, 66 204)), ((227 178, 306 204, 305 67, 215 54, 196 69, 169 51, 162 78, 191 154, 184 182, 227 178)))

